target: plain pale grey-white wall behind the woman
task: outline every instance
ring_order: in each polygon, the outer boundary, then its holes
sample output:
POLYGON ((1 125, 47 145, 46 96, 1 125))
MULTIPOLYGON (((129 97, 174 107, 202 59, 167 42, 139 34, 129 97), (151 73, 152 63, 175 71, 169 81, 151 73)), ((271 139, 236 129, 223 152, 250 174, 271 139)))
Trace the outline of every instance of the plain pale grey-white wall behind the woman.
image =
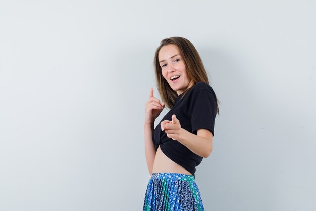
POLYGON ((196 172, 205 210, 315 210, 315 6, 1 1, 0 210, 142 208, 144 105, 170 36, 221 101, 196 172))

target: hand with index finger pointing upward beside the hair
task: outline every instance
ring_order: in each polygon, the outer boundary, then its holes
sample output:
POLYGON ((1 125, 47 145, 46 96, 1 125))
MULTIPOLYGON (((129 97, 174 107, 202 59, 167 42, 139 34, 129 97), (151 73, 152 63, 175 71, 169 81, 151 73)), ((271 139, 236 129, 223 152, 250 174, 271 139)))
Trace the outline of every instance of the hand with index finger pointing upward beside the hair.
POLYGON ((154 120, 165 108, 165 104, 153 97, 153 89, 150 88, 149 99, 145 106, 145 124, 153 124, 154 120))

